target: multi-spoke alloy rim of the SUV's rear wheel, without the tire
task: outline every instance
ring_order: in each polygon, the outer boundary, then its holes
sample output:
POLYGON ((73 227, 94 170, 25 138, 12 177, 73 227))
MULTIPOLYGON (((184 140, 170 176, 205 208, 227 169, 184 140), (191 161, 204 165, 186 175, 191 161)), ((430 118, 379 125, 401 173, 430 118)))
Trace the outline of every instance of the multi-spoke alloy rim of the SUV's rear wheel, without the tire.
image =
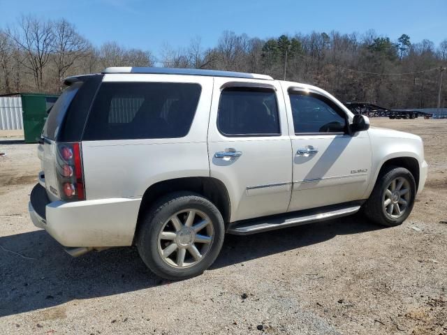
POLYGON ((211 220, 205 213, 196 209, 178 211, 159 232, 159 255, 176 269, 191 267, 203 260, 213 236, 211 220))

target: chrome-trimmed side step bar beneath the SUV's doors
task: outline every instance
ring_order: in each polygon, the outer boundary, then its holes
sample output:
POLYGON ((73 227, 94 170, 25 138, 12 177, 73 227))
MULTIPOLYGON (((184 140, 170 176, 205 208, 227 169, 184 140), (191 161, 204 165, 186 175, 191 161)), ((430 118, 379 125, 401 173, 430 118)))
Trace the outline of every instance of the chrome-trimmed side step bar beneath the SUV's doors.
POLYGON ((238 221, 230 225, 228 234, 249 235, 256 232, 267 232, 268 230, 293 227, 294 225, 305 225, 316 221, 329 220, 330 218, 340 218, 356 213, 360 205, 351 204, 343 207, 330 206, 305 211, 295 211, 294 213, 281 214, 276 216, 266 216, 250 220, 238 221))

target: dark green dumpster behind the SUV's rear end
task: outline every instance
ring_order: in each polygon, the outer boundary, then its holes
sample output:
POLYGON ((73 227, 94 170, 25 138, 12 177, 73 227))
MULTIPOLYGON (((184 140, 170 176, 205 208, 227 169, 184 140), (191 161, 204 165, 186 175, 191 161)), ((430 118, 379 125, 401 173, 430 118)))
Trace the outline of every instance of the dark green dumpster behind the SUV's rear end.
POLYGON ((20 96, 25 143, 36 143, 36 137, 41 137, 48 111, 59 96, 39 93, 22 93, 20 96))

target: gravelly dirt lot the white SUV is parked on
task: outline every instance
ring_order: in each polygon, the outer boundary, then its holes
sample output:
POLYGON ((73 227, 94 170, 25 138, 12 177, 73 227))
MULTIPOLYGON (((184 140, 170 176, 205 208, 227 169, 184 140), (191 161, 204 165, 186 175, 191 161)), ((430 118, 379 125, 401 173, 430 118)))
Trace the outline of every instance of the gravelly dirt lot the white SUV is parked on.
POLYGON ((447 120, 416 133, 430 165, 400 227, 356 215, 227 236, 203 276, 161 281, 135 248, 71 258, 27 214, 35 144, 0 133, 1 334, 447 334, 447 120), (7 138, 5 136, 8 136, 7 138))

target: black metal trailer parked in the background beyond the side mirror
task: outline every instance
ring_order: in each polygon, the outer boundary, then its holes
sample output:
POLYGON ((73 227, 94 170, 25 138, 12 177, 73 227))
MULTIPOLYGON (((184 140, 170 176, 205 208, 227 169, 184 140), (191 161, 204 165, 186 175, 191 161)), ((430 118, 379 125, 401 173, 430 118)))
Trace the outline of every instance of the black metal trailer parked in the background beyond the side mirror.
POLYGON ((417 117, 424 117, 430 119, 432 113, 422 112, 420 110, 390 110, 386 107, 374 105, 373 103, 344 103, 353 114, 362 114, 367 117, 388 117, 390 119, 416 119, 417 117))

